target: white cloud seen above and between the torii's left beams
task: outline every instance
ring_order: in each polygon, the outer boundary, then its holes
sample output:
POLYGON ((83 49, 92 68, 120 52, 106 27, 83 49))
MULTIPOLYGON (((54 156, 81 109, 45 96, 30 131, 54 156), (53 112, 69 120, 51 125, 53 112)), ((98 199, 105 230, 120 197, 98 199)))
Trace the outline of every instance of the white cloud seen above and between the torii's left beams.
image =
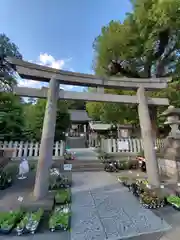
MULTIPOLYGON (((68 67, 68 63, 72 60, 72 58, 68 59, 58 59, 56 60, 52 55, 48 53, 41 53, 35 61, 39 65, 48 66, 56 69, 63 69, 63 70, 69 70, 74 71, 71 67, 68 67)), ((33 62, 33 61, 30 61, 33 62)), ((24 80, 24 79, 18 79, 19 86, 22 87, 34 87, 34 88, 41 88, 42 86, 47 87, 48 83, 33 81, 33 80, 24 80)), ((71 86, 71 85, 61 85, 61 88, 68 91, 82 91, 84 88, 77 87, 77 86, 71 86)))

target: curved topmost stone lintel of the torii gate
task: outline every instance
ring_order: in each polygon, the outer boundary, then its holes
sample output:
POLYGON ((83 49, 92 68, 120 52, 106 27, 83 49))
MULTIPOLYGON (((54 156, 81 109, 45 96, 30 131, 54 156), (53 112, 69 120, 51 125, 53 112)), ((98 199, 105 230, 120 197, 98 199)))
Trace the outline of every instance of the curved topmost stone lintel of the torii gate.
POLYGON ((171 78, 102 78, 91 74, 58 70, 16 58, 7 57, 6 59, 9 63, 12 63, 16 66, 16 70, 22 78, 42 82, 49 82, 52 77, 56 76, 56 79, 61 84, 67 85, 119 89, 137 89, 143 85, 146 90, 159 90, 166 88, 167 83, 171 81, 171 78))

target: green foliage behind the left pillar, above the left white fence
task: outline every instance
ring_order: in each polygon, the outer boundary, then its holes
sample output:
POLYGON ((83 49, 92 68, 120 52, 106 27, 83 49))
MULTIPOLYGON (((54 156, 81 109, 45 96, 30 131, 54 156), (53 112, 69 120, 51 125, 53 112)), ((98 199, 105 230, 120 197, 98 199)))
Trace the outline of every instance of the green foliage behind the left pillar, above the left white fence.
MULTIPOLYGON (((0 95, 0 139, 6 141, 40 141, 46 100, 25 103, 12 93, 0 95)), ((58 102, 55 141, 65 138, 70 124, 66 103, 58 102)))

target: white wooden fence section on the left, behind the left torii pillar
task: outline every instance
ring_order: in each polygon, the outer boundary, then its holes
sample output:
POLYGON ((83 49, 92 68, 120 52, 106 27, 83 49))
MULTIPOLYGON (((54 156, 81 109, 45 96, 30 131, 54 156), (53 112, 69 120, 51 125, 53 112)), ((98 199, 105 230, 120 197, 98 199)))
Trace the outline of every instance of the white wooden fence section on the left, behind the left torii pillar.
MULTIPOLYGON (((40 143, 38 142, 1 142, 0 148, 11 148, 13 151, 13 158, 29 157, 37 158, 39 156, 40 143)), ((53 157, 63 156, 65 143, 63 141, 55 142, 53 147, 53 157)))

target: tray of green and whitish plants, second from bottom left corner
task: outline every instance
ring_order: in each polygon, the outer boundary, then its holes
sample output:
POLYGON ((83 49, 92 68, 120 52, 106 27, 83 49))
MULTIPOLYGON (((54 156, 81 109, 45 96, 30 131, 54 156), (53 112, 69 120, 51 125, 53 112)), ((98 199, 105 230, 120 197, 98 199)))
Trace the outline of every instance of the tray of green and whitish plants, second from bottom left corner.
POLYGON ((27 212, 16 227, 18 236, 25 233, 34 234, 37 231, 43 213, 44 211, 41 208, 39 208, 36 212, 27 212))

